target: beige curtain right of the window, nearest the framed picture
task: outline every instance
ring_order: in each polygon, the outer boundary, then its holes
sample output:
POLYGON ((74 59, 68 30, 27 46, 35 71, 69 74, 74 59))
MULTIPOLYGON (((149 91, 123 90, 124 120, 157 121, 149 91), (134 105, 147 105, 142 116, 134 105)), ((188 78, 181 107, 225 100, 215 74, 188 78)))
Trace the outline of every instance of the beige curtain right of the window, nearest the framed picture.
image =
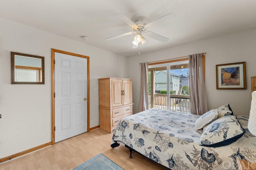
POLYGON ((202 54, 189 55, 188 59, 191 113, 202 115, 208 111, 202 54))

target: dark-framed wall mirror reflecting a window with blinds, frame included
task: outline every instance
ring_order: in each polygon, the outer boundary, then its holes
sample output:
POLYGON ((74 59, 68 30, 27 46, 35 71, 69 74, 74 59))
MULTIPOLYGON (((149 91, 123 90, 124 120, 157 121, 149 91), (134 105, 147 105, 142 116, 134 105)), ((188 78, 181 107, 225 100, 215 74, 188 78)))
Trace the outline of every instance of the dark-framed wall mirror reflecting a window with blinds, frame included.
POLYGON ((11 52, 12 84, 44 84, 44 57, 11 52))

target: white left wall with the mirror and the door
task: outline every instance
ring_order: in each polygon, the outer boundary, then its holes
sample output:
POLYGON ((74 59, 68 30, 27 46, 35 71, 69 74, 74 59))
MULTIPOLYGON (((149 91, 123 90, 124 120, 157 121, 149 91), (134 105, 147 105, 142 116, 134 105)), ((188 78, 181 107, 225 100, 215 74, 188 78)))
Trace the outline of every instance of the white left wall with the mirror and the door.
POLYGON ((98 78, 127 78, 127 57, 10 20, 0 25, 0 158, 51 141, 51 48, 90 57, 90 127, 98 126, 98 78), (45 84, 11 84, 10 51, 45 57, 45 84))

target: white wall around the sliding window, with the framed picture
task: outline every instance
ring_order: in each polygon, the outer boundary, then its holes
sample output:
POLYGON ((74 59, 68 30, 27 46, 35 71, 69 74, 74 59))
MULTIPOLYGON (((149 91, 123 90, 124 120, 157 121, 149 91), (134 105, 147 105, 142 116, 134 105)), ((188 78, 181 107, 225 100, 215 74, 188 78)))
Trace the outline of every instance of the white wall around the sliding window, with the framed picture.
MULTIPOLYGON (((249 115, 251 76, 256 76, 256 29, 212 37, 176 47, 129 57, 128 77, 133 79, 133 113, 140 101, 140 64, 206 52, 206 93, 208 109, 230 104, 234 114, 249 115), (246 90, 217 90, 216 65, 246 62, 246 90)), ((146 44, 145 44, 146 45, 146 44)), ((142 46, 143 48, 143 46, 142 46)))

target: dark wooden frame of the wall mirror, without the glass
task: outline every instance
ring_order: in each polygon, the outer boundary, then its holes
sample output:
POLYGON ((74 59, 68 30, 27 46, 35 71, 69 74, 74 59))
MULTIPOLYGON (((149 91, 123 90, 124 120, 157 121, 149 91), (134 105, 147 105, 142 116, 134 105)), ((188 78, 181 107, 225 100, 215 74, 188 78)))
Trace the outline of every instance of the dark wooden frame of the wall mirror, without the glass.
POLYGON ((12 84, 44 84, 44 57, 36 56, 36 55, 29 55, 29 54, 22 54, 22 53, 16 53, 16 52, 11 52, 11 79, 12 79, 12 84), (16 82, 14 80, 14 56, 15 55, 20 55, 24 57, 32 57, 32 58, 37 58, 41 59, 42 62, 42 81, 41 82, 16 82))

